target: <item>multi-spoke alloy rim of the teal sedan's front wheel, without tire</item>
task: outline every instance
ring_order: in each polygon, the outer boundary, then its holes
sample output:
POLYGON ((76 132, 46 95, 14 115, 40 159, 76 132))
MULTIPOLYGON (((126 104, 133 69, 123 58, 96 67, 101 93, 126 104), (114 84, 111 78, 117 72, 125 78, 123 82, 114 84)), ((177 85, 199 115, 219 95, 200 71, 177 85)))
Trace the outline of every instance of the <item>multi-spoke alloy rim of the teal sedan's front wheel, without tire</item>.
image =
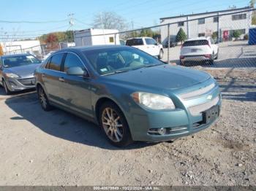
POLYGON ((110 107, 102 112, 102 125, 108 138, 113 142, 119 142, 124 136, 124 126, 121 123, 120 116, 110 107))

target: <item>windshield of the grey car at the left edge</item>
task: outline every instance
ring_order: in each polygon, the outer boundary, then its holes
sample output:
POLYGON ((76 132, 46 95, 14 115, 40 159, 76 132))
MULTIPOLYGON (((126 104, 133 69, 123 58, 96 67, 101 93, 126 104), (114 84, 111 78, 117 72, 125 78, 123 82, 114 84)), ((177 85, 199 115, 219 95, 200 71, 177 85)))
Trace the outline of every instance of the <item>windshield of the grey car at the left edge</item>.
POLYGON ((14 55, 12 57, 3 58, 4 68, 27 66, 34 63, 41 63, 41 61, 39 61, 33 55, 14 55))

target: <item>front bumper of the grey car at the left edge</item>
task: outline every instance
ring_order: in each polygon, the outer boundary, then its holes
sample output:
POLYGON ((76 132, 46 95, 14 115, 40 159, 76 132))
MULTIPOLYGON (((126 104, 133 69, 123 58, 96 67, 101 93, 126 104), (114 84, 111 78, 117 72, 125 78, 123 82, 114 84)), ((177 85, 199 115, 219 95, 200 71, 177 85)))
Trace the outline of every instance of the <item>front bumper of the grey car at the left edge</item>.
POLYGON ((20 91, 20 90, 27 90, 32 89, 35 87, 35 78, 7 78, 5 79, 7 82, 7 87, 10 91, 20 91))

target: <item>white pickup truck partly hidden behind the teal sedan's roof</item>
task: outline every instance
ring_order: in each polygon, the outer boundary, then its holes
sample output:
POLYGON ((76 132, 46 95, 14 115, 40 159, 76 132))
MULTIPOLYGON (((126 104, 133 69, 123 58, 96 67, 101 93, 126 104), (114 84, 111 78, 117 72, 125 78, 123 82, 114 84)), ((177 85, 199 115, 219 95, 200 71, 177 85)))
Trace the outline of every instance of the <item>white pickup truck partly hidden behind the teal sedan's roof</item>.
POLYGON ((150 37, 127 39, 126 45, 143 50, 144 52, 156 56, 159 59, 162 59, 164 55, 162 44, 157 43, 154 39, 150 37))

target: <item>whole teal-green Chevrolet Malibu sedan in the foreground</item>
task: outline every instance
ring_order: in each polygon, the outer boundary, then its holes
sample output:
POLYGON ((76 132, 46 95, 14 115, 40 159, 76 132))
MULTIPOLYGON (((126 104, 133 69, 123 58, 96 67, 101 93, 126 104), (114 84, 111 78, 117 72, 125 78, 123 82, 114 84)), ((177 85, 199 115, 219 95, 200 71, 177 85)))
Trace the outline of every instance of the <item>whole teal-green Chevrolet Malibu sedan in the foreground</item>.
POLYGON ((222 102, 211 75, 170 66, 134 47, 59 50, 35 77, 42 109, 55 106, 97 123, 117 147, 208 128, 222 102))

